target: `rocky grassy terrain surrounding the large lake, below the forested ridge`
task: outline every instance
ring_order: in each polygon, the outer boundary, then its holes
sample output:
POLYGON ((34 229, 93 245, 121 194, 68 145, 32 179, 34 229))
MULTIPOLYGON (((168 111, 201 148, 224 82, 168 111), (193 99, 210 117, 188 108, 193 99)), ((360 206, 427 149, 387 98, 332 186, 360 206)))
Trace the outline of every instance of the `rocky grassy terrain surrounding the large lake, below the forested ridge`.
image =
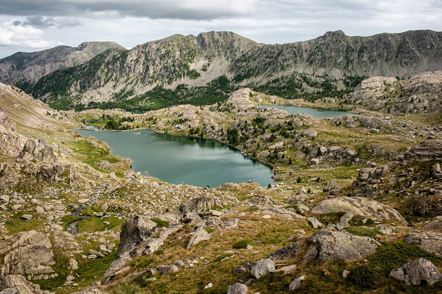
POLYGON ((103 111, 54 111, 1 85, 0 293, 442 291, 441 81, 426 75, 427 108, 403 107, 404 90, 390 114, 364 102, 368 80, 317 102, 358 99, 341 118, 255 109, 304 102, 246 88, 126 122, 234 145, 274 165, 271 187, 142 176, 71 130, 103 111))

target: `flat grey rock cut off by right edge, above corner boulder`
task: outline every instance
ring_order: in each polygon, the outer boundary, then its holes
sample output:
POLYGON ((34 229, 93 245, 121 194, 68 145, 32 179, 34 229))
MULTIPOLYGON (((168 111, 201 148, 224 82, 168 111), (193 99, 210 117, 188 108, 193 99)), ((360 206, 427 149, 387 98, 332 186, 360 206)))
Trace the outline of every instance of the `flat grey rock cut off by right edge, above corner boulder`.
POLYGON ((442 233, 411 230, 405 238, 407 244, 417 244, 423 250, 442 257, 442 233))

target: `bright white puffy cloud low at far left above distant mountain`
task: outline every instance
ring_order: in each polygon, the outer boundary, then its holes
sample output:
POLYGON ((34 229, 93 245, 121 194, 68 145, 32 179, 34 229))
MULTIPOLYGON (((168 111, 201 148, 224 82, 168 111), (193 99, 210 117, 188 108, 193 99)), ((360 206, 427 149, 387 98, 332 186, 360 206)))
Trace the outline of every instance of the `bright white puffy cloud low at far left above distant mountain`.
POLYGON ((0 46, 43 49, 62 45, 61 42, 44 40, 44 32, 40 29, 4 22, 0 25, 0 46))

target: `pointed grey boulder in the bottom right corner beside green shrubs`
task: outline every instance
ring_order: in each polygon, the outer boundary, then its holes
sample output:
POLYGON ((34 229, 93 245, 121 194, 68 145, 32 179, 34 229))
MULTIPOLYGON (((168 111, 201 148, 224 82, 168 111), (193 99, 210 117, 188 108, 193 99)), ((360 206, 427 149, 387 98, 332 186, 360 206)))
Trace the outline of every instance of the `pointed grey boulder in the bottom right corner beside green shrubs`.
POLYGON ((419 258, 402 267, 393 268, 390 277, 405 282, 407 285, 433 285, 442 279, 442 275, 434 264, 425 258, 419 258))

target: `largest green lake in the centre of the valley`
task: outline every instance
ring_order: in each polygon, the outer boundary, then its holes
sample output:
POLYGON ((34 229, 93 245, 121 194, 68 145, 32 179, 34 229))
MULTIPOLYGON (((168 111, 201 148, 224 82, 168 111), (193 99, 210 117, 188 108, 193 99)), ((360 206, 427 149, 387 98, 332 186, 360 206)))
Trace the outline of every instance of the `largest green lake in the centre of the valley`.
POLYGON ((151 130, 77 130, 83 136, 105 141, 111 154, 129 157, 132 169, 168 183, 218 187, 249 179, 267 186, 273 183, 271 168, 245 157, 229 145, 201 138, 176 137, 151 130))

